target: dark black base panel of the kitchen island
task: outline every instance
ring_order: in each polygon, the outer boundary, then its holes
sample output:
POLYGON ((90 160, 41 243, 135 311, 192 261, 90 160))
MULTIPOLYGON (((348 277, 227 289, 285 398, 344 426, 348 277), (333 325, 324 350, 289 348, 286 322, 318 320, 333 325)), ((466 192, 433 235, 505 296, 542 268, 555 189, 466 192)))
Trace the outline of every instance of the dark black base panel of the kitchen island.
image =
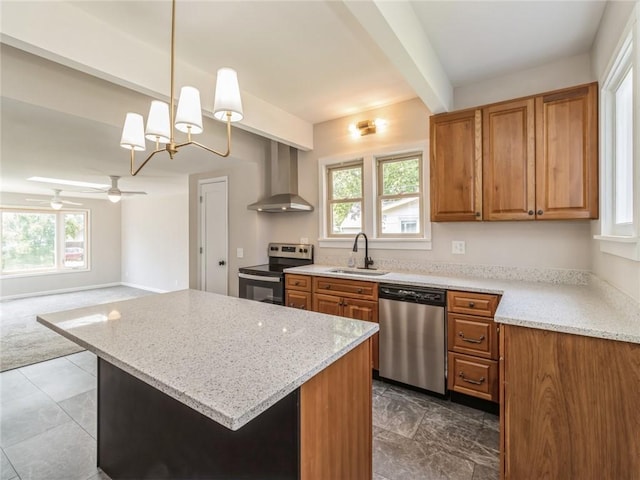
POLYGON ((98 359, 98 466, 119 479, 298 479, 299 389, 237 431, 98 359))

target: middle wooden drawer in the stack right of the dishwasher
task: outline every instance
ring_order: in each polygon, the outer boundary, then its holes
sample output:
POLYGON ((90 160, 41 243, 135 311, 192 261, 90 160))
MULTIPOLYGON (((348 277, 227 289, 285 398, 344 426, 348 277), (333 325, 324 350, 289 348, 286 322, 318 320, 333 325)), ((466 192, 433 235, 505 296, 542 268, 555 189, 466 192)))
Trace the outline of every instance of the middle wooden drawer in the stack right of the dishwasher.
POLYGON ((448 314, 448 349, 454 352, 498 359, 497 325, 488 318, 448 314))

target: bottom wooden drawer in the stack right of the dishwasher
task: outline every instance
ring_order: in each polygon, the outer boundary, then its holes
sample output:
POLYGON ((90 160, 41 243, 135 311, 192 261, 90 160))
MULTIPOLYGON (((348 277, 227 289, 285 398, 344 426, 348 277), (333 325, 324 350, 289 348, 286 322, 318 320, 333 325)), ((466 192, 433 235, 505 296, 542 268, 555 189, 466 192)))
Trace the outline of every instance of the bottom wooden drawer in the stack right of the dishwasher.
POLYGON ((498 362, 449 352, 449 390, 498 401, 498 362))

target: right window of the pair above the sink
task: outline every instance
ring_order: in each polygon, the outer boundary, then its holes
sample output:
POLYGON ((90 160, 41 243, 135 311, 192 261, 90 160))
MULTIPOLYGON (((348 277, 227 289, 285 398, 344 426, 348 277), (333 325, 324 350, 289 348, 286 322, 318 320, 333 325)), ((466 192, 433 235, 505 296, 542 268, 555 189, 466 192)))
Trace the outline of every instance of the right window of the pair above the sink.
POLYGON ((380 236, 418 236, 421 232, 422 155, 378 158, 380 236))

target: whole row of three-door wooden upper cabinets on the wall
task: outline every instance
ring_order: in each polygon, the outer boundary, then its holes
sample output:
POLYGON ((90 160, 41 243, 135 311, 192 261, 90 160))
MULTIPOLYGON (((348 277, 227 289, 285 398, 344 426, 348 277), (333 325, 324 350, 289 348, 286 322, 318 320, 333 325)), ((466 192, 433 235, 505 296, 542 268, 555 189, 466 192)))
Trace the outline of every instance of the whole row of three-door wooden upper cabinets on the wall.
POLYGON ((431 220, 598 218, 598 84, 430 122, 431 220))

